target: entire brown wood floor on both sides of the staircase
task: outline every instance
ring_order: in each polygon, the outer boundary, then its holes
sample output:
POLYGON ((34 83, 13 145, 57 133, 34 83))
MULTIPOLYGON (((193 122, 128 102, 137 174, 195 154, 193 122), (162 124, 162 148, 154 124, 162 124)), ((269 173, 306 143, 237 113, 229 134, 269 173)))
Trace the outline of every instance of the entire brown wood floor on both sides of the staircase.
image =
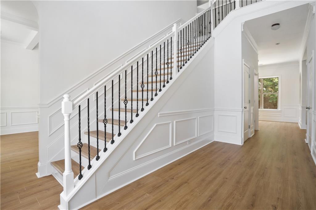
MULTIPOLYGON (((213 142, 83 209, 316 209, 316 166, 297 123, 259 122, 243 146, 213 142)), ((1 209, 57 209, 37 178, 37 132, 1 136, 1 209)))

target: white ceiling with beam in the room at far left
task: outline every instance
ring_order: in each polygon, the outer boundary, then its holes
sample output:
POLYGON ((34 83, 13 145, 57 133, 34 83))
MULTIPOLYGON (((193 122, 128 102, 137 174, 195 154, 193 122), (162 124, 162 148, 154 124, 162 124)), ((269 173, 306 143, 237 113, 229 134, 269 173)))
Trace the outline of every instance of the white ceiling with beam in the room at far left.
POLYGON ((1 1, 1 40, 32 50, 38 43, 38 14, 31 1, 1 1))

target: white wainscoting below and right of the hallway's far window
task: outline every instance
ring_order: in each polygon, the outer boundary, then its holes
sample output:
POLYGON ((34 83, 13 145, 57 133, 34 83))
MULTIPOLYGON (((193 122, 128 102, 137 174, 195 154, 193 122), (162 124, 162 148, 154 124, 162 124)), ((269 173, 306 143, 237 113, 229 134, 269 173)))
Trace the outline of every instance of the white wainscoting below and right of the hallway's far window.
POLYGON ((259 109, 259 120, 299 122, 299 105, 283 104, 280 110, 259 109))

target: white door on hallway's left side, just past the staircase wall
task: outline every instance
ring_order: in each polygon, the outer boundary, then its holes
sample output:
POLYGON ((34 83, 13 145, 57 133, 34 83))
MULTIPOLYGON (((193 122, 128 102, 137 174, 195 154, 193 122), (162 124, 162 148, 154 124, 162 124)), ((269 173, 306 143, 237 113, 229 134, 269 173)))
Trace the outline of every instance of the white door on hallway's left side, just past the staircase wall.
POLYGON ((244 63, 244 142, 249 138, 250 134, 250 84, 249 67, 244 63))

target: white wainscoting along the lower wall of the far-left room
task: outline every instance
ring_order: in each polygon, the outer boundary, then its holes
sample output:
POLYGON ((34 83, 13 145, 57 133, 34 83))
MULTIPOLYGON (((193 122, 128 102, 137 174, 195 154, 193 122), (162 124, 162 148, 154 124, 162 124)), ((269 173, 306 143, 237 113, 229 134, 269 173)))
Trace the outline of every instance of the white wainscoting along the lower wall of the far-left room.
POLYGON ((38 131, 37 107, 1 108, 1 135, 38 131))

